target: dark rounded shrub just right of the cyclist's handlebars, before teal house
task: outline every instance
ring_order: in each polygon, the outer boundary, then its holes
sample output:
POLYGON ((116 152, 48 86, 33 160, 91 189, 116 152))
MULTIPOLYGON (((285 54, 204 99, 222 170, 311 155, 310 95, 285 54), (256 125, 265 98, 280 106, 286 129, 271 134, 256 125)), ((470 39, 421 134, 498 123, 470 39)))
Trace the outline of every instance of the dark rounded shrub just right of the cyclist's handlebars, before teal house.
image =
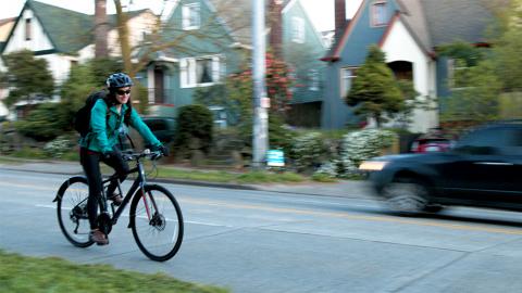
POLYGON ((209 152, 212 143, 213 116, 203 105, 186 105, 179 107, 174 148, 179 153, 188 150, 209 152))

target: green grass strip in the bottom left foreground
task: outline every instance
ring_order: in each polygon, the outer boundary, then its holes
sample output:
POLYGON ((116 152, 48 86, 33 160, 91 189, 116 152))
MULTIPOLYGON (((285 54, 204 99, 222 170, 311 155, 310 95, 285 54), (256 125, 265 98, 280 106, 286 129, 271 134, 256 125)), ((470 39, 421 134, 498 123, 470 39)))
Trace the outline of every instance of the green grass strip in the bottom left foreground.
POLYGON ((0 251, 0 292, 228 292, 164 273, 146 275, 109 265, 75 265, 58 257, 26 257, 0 251))

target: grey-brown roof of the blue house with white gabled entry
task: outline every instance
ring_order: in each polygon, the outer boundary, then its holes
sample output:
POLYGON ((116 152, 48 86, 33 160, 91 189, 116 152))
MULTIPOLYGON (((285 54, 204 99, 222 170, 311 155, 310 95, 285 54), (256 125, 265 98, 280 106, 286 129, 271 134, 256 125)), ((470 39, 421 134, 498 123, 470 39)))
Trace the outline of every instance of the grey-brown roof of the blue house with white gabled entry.
MULTIPOLYGON (((399 17, 391 17, 389 25, 398 18, 407 26, 419 46, 426 52, 444 43, 457 40, 470 43, 486 42, 484 30, 493 18, 489 10, 477 0, 396 0, 399 7, 399 17)), ((361 7, 353 20, 345 27, 339 38, 335 40, 323 61, 337 61, 343 47, 349 39, 358 18, 362 14, 368 0, 361 7)), ((384 36, 385 37, 385 36, 384 36)))

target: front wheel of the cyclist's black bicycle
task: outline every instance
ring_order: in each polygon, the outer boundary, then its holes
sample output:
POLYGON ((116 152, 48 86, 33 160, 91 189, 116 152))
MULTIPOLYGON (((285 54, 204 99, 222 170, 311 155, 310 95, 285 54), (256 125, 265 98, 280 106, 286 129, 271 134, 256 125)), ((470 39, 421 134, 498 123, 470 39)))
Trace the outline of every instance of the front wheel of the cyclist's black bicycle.
POLYGON ((152 260, 171 259, 183 241, 183 216, 176 199, 161 186, 146 186, 130 204, 130 228, 139 250, 152 260))

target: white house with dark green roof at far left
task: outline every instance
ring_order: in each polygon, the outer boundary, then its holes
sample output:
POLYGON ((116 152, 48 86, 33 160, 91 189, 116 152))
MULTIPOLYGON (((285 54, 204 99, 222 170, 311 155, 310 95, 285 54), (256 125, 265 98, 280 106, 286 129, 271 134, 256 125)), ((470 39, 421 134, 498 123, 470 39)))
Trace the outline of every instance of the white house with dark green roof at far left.
MULTIPOLYGON (((94 15, 88 15, 42 2, 27 0, 1 54, 9 54, 23 49, 30 50, 35 56, 47 60, 57 86, 69 75, 72 64, 92 59, 94 15)), ((130 43, 137 44, 150 31, 156 22, 150 10, 129 13, 130 43)), ((108 47, 113 50, 110 55, 119 55, 117 29, 115 15, 109 15, 108 47), (116 49, 114 49, 116 48, 116 49)))

